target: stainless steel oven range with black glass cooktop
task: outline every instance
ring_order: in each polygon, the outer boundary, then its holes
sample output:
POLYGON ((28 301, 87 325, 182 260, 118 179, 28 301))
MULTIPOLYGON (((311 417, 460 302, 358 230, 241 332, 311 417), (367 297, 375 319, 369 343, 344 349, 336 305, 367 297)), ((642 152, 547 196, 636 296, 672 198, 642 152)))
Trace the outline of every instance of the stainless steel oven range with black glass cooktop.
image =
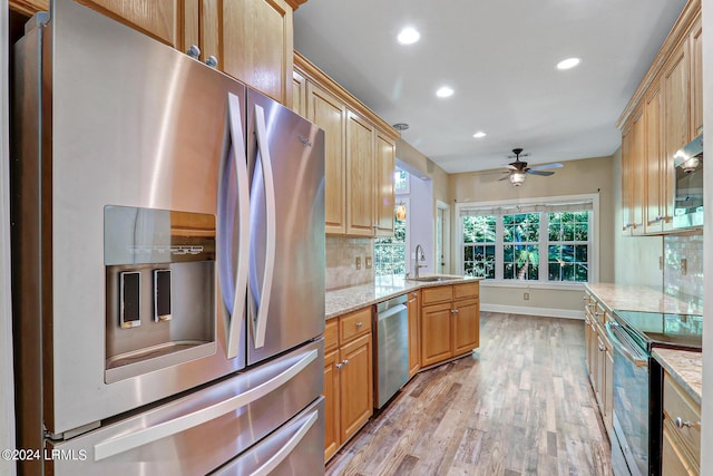
POLYGON ((702 317, 616 310, 612 466, 615 476, 661 475, 663 371, 654 347, 701 350, 702 317))

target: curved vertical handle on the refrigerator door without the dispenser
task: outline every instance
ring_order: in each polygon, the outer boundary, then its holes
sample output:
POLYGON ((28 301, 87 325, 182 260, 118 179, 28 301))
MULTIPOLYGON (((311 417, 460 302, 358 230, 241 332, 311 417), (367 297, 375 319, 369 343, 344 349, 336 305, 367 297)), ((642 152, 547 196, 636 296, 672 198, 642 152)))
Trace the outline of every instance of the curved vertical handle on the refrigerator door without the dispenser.
POLYGON ((263 181, 265 184, 265 272, 260 290, 257 312, 253 315, 253 341, 255 349, 265 346, 265 332, 267 329, 267 313, 270 311, 270 297, 272 281, 275 271, 275 185, 272 173, 272 158, 267 143, 267 128, 265 126, 265 110, 255 105, 255 135, 257 136, 257 150, 260 153, 263 181))

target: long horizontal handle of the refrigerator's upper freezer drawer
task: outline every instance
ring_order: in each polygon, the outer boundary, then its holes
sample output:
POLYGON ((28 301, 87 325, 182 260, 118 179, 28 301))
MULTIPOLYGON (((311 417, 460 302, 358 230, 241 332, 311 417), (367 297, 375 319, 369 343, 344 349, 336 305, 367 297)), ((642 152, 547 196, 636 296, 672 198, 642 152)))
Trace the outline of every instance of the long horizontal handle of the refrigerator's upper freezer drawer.
POLYGON ((191 414, 98 443, 94 446, 94 459, 95 462, 99 462, 101 459, 139 448, 144 445, 149 445, 162 438, 186 431, 257 401, 289 382, 292 378, 302 372, 311 362, 316 360, 318 357, 319 350, 313 349, 285 371, 243 394, 236 395, 217 404, 209 405, 191 414))

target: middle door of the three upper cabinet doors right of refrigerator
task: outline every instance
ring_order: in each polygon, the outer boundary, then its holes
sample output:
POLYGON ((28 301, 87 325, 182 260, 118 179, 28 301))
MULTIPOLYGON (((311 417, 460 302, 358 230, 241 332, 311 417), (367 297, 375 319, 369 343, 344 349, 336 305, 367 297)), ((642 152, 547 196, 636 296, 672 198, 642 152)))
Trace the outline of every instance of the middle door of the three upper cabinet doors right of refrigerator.
POLYGON ((346 111, 346 234, 374 235, 373 147, 371 123, 346 111))

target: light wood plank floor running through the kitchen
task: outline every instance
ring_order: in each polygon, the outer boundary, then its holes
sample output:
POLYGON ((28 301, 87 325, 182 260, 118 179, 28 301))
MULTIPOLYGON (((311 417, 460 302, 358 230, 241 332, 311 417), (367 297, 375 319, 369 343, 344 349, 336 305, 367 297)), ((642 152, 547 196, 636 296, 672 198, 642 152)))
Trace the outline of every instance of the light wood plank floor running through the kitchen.
POLYGON ((417 375, 328 475, 611 475, 578 320, 481 312, 481 347, 417 375))

